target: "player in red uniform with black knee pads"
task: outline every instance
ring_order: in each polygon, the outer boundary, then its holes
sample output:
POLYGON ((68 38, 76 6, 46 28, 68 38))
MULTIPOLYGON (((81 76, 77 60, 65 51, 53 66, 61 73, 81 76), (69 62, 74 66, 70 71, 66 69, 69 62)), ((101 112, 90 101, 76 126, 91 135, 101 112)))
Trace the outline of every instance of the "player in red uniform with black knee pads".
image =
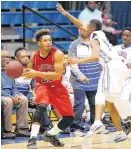
POLYGON ((51 130, 43 134, 43 140, 56 147, 63 146, 56 135, 69 127, 74 120, 74 112, 69 94, 61 83, 64 54, 52 47, 52 39, 48 29, 36 32, 39 50, 35 51, 30 59, 28 70, 23 73, 27 79, 36 78, 36 111, 33 117, 31 136, 28 149, 37 149, 36 137, 40 128, 40 121, 47 105, 51 104, 60 113, 62 119, 51 130))

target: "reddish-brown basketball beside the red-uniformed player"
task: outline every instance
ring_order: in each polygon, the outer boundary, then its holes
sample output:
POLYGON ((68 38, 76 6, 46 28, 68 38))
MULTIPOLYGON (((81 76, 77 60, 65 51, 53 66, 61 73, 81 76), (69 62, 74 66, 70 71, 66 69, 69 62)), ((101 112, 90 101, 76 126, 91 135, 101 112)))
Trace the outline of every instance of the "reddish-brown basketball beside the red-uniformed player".
POLYGON ((5 68, 5 72, 9 78, 19 78, 23 73, 23 66, 15 60, 9 62, 5 68))

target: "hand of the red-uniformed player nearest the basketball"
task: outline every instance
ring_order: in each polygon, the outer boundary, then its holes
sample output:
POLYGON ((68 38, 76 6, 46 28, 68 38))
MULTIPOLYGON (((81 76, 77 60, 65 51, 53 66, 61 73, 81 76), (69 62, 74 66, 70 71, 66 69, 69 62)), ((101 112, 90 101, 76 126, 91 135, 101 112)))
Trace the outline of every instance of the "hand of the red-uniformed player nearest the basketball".
POLYGON ((33 70, 33 69, 27 68, 26 71, 22 74, 22 76, 23 76, 25 79, 36 78, 36 76, 37 76, 37 71, 35 71, 35 70, 33 70))

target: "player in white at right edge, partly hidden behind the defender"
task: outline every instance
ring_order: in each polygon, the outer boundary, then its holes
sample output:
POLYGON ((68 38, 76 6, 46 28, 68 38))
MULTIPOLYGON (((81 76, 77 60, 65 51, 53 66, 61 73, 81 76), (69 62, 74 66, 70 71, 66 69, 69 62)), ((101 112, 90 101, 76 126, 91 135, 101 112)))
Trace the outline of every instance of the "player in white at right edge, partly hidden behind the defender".
POLYGON ((121 118, 124 120, 125 132, 126 134, 129 134, 131 132, 131 27, 126 27, 124 29, 122 40, 123 44, 115 46, 113 50, 117 50, 121 54, 127 54, 126 64, 128 66, 129 75, 124 83, 120 101, 117 100, 114 104, 117 107, 121 118))

